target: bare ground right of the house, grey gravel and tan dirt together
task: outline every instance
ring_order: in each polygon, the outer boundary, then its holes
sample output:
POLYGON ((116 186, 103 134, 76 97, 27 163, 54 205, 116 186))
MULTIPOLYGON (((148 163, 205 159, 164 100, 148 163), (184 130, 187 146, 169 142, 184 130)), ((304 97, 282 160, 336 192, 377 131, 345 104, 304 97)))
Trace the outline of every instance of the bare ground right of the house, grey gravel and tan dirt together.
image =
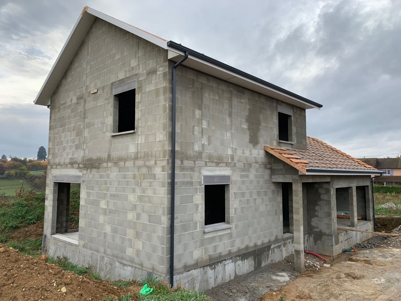
MULTIPOLYGON (((401 228, 392 232, 401 234, 401 228)), ((327 259, 330 267, 305 256, 306 272, 300 275, 286 258, 207 295, 215 301, 401 301, 401 236, 373 236, 358 244, 356 252, 327 259)))

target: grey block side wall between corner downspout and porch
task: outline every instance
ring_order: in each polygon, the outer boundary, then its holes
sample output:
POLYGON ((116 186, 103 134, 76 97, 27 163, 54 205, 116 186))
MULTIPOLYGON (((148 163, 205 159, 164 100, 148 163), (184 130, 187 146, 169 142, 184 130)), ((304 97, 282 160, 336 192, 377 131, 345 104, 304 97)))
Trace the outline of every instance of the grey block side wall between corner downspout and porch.
MULTIPOLYGON (((281 183, 271 182, 273 163, 263 150, 278 145, 277 105, 294 110, 294 124, 305 120, 304 109, 177 69, 176 274, 282 241, 281 183), (231 175, 232 227, 204 233, 202 176, 209 174, 231 175)), ((306 148, 305 126, 294 136, 294 147, 306 148)))

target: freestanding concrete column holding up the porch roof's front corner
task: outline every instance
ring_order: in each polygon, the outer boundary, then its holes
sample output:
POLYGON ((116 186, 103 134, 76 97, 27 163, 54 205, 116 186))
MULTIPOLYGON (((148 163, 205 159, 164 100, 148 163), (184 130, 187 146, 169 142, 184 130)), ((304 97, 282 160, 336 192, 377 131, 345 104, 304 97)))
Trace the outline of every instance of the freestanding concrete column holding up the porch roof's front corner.
POLYGON ((304 273, 304 214, 302 208, 302 181, 292 180, 292 207, 294 218, 295 270, 304 273))

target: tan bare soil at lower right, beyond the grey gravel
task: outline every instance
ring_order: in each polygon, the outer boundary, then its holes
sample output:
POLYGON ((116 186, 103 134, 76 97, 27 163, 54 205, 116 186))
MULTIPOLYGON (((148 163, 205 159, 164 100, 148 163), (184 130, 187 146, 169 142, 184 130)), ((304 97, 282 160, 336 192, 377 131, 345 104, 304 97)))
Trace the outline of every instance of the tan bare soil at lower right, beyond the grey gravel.
POLYGON ((307 272, 259 301, 401 300, 401 249, 357 251, 349 260, 318 272, 307 272), (284 294, 286 296, 284 296, 284 294))

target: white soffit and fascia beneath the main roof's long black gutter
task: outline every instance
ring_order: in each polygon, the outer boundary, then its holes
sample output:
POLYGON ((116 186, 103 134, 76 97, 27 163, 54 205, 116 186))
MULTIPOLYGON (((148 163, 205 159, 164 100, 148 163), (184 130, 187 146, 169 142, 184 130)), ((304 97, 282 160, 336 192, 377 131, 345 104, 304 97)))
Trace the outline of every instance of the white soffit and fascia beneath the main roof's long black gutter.
MULTIPOLYGON (((182 59, 182 57, 184 57, 184 53, 181 51, 178 51, 177 49, 174 49, 171 47, 167 47, 167 49, 168 49, 168 59, 170 59, 172 61, 179 61, 180 59, 182 59)), ((278 100, 282 100, 283 102, 287 102, 287 103, 290 103, 290 104, 293 104, 295 106, 299 106, 299 107, 305 108, 305 109, 316 108, 316 109, 320 110, 320 108, 318 106, 314 106, 312 104, 304 102, 303 100, 289 96, 288 94, 277 91, 276 89, 267 87, 265 85, 262 85, 261 83, 257 83, 256 81, 253 81, 252 79, 248 79, 237 73, 234 73, 234 72, 224 69, 222 67, 216 66, 212 63, 209 63, 209 62, 199 59, 197 57, 193 57, 192 55, 188 55, 188 59, 186 61, 184 61, 184 63, 182 63, 182 64, 186 65, 188 67, 191 67, 193 69, 197 69, 199 71, 203 71, 205 73, 211 74, 211 75, 221 78, 225 81, 229 81, 231 83, 243 86, 245 88, 252 89, 261 94, 265 94, 267 96, 271 96, 278 100), (208 68, 202 68, 200 64, 205 65, 208 68), (202 70, 202 69, 204 69, 204 70, 202 70)))

